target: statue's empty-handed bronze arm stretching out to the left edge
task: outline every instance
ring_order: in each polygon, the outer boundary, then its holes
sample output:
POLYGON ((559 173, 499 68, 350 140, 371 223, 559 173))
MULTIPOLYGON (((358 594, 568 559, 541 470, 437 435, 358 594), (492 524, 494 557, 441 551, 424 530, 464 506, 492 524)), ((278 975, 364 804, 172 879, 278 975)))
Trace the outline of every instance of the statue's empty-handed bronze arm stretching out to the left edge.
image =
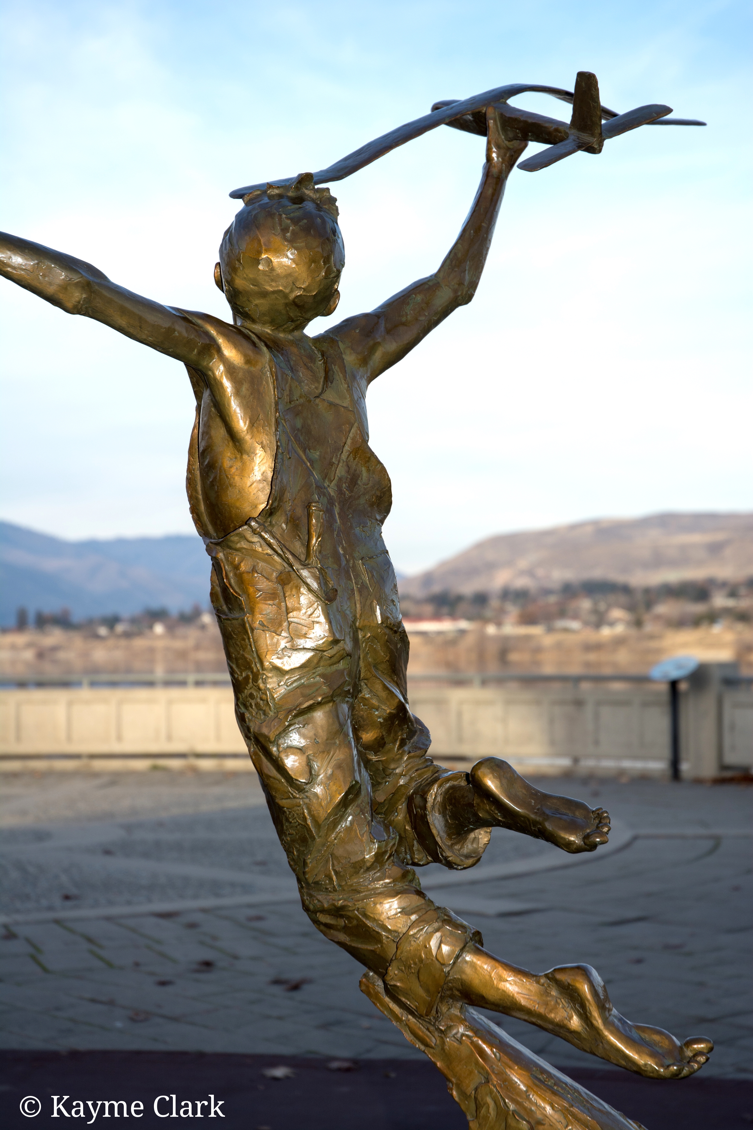
POLYGON ((59 306, 104 322, 186 365, 204 370, 216 346, 180 311, 111 282, 90 263, 40 243, 0 233, 0 275, 59 306))

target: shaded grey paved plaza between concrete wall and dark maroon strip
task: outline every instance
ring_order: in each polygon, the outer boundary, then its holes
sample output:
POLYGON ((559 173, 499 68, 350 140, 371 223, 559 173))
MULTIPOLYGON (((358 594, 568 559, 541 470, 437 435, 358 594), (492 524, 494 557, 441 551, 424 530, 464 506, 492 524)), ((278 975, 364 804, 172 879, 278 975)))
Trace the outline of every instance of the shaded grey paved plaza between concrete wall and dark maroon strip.
MULTIPOLYGON (((357 964, 303 914, 246 774, 0 784, 1 1046, 419 1054, 361 996, 357 964)), ((428 868, 427 889, 506 959, 588 962, 631 1019, 711 1036, 703 1075, 750 1078, 753 790, 546 786, 598 798, 616 818, 615 847, 573 858, 494 833, 481 867, 428 868)), ((557 1064, 599 1063, 496 1019, 557 1064)))

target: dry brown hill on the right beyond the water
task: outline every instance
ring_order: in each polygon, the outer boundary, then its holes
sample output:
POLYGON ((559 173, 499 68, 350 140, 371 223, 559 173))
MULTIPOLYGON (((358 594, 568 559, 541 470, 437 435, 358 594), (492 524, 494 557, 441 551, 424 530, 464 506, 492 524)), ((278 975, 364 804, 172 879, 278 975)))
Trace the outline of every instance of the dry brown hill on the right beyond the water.
POLYGON ((559 588, 597 577, 641 585, 751 575, 753 514, 651 514, 487 538, 401 581, 400 591, 426 597, 445 589, 559 588))

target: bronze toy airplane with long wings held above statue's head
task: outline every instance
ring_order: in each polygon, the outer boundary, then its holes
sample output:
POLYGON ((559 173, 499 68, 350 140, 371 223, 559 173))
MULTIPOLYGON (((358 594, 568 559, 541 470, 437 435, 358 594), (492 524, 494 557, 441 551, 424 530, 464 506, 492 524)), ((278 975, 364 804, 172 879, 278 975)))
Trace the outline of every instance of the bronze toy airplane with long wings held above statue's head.
MULTIPOLYGON (((453 129, 485 137, 484 112, 490 105, 499 111, 510 137, 549 146, 548 149, 520 162, 517 167, 526 173, 536 173, 540 168, 546 168, 573 153, 601 153, 604 141, 634 130, 639 125, 706 125, 706 122, 691 118, 667 118, 667 114, 672 113, 672 107, 660 104, 638 106, 624 114, 618 114, 615 110, 601 104, 596 76, 590 71, 578 71, 575 90, 562 90, 558 86, 513 82, 493 90, 484 90, 483 94, 476 94, 461 102, 456 98, 435 102, 431 113, 406 122, 405 125, 399 125, 380 138, 368 141, 347 157, 342 157, 329 168, 314 173, 314 184, 343 181, 352 173, 384 157, 392 149, 421 137, 422 133, 428 133, 438 125, 452 125, 453 129), (572 105, 570 121, 561 122, 557 118, 545 118, 543 114, 534 114, 529 110, 508 105, 510 98, 529 92, 551 94, 561 102, 570 103, 572 105)), ((295 176, 286 176, 271 183, 292 184, 295 180, 295 176)), ((242 189, 234 189, 230 195, 236 200, 242 199, 256 189, 266 188, 266 183, 262 181, 259 184, 246 184, 242 189)))

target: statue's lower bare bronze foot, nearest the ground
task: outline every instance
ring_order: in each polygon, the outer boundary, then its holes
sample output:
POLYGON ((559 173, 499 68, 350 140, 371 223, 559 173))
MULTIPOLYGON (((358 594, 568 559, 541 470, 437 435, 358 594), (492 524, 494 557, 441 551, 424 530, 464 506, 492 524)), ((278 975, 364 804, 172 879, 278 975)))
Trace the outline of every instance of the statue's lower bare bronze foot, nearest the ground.
POLYGON ((540 980, 555 986, 572 1006, 566 1022, 570 1031, 557 1035, 629 1071, 649 1079, 685 1079, 703 1067, 713 1051, 712 1041, 703 1036, 681 1043, 664 1028, 625 1020, 589 965, 550 970, 540 980))

